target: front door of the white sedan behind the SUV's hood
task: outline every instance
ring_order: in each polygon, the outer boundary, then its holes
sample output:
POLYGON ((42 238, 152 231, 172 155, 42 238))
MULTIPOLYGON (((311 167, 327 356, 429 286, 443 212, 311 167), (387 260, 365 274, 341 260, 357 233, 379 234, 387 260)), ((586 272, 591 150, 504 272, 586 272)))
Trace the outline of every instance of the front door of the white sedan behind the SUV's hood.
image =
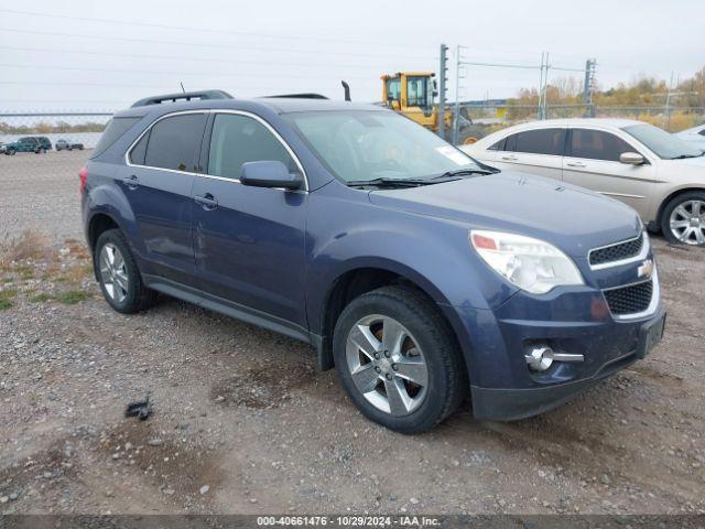
POLYGON ((568 147, 563 159, 563 180, 606 196, 620 199, 637 209, 640 215, 649 210, 655 171, 641 152, 626 138, 614 132, 585 127, 572 128, 568 147), (623 152, 637 152, 647 163, 621 163, 623 152))

